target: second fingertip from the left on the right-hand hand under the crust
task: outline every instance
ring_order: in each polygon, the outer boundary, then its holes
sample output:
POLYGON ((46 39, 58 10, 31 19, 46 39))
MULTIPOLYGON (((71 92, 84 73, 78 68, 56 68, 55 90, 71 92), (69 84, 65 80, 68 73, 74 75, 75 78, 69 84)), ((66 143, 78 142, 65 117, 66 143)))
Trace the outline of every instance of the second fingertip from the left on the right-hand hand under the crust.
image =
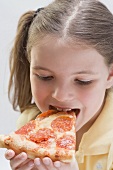
POLYGON ((54 167, 53 161, 50 158, 45 157, 42 159, 42 162, 45 165, 45 167, 47 168, 47 170, 50 170, 50 169, 56 170, 56 168, 54 167))

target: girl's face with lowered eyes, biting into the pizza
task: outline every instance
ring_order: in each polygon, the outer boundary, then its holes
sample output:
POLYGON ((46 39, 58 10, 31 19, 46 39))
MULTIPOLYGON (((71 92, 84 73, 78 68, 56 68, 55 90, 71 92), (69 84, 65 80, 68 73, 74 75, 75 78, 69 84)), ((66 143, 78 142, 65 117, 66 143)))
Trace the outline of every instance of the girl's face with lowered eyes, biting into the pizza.
POLYGON ((93 48, 71 48, 55 39, 31 50, 30 81, 36 105, 42 112, 76 110, 77 131, 99 115, 112 79, 103 56, 93 48))

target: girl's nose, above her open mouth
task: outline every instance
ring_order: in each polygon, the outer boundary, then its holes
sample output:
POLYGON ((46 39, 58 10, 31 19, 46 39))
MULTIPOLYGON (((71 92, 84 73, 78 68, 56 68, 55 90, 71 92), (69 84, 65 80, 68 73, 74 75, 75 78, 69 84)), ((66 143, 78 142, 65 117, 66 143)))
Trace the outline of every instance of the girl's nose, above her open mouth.
POLYGON ((70 101, 74 99, 74 91, 66 86, 56 87, 52 92, 52 97, 59 102, 70 101))

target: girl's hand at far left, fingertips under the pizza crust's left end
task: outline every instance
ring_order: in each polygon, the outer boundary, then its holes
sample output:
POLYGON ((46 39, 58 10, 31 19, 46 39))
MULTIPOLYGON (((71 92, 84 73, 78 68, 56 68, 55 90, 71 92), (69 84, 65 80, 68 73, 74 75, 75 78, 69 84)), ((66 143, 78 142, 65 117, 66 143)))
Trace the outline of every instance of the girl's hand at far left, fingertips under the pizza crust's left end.
POLYGON ((27 158, 25 152, 15 155, 13 150, 7 150, 5 158, 10 160, 12 170, 31 170, 34 167, 34 161, 27 158))

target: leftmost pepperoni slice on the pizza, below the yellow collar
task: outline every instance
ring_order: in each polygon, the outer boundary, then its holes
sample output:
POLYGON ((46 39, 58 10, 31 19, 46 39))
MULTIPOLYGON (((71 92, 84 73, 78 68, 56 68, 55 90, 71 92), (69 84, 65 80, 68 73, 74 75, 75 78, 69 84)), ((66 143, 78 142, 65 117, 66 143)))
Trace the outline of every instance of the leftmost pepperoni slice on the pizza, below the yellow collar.
POLYGON ((32 120, 28 122, 26 125, 22 126, 19 130, 17 130, 15 133, 16 134, 21 134, 21 135, 27 135, 30 131, 35 129, 35 121, 32 120))

